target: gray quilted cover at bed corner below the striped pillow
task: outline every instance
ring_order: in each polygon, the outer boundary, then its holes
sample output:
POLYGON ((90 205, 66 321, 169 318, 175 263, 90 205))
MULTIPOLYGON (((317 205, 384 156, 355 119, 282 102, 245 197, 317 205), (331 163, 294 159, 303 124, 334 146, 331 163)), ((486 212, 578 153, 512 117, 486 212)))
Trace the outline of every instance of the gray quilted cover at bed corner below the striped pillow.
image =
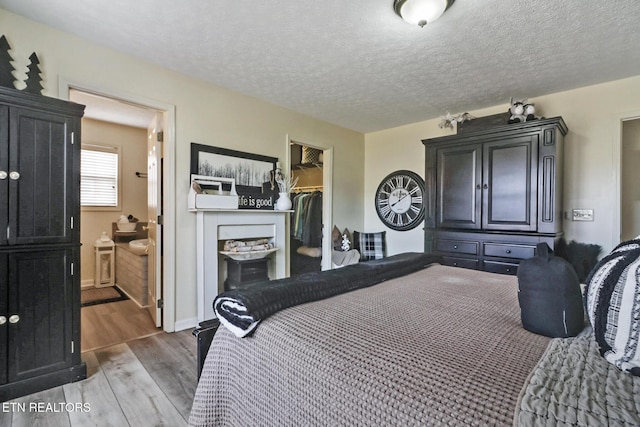
POLYGON ((640 377, 600 356, 590 327, 556 338, 523 388, 519 426, 640 426, 640 377))

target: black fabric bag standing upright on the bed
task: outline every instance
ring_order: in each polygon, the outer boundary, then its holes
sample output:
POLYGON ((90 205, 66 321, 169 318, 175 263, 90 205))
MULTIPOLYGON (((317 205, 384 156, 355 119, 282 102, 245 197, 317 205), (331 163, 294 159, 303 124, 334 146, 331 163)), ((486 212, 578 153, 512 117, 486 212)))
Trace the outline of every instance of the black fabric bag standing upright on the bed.
POLYGON ((520 262, 518 301, 522 326, 552 338, 577 335, 584 327, 580 282, 574 268, 539 243, 537 256, 520 262))

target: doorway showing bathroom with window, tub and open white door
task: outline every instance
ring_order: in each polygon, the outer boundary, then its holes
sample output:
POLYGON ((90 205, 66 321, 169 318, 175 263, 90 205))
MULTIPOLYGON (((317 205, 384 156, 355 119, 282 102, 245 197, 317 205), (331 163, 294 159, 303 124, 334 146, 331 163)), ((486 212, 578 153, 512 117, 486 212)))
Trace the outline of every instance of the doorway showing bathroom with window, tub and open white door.
MULTIPOLYGON (((156 223, 162 215, 163 112, 74 88, 69 99, 86 105, 81 169, 93 150, 114 152, 117 159, 115 205, 81 209, 82 294, 115 290, 123 297, 83 306, 81 344, 87 351, 162 332, 162 239, 156 223), (107 259, 98 255, 98 236, 113 246, 107 259)), ((81 186, 94 179, 91 170, 81 175, 81 186)))

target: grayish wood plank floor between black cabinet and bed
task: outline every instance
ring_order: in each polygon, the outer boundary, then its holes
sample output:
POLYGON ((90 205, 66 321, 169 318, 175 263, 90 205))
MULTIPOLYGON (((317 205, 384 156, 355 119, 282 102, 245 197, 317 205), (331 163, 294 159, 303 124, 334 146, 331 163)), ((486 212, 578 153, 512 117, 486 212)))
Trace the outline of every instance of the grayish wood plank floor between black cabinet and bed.
POLYGON ((86 380, 2 404, 0 426, 184 426, 197 384, 196 350, 186 330, 83 352, 86 380))

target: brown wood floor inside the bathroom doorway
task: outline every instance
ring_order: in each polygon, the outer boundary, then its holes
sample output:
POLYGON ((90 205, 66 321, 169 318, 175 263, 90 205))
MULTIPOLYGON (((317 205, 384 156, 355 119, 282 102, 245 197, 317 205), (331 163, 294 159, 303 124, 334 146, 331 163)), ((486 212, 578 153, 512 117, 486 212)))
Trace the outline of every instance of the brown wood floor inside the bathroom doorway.
POLYGON ((147 309, 130 299, 82 307, 80 329, 83 352, 162 332, 147 309))

